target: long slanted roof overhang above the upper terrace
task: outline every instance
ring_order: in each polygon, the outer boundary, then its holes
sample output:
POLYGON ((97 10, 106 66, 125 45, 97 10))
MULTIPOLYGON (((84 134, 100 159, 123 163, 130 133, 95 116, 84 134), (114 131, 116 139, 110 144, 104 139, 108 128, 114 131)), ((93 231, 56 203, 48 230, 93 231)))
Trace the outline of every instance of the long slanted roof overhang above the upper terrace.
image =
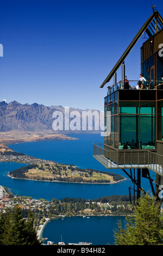
POLYGON ((149 38, 153 36, 156 32, 158 32, 161 28, 163 28, 163 20, 157 10, 153 11, 153 14, 149 19, 145 22, 145 24, 141 27, 140 31, 136 34, 133 41, 131 41, 130 45, 127 47, 126 51, 122 54, 121 58, 118 60, 114 68, 110 71, 109 75, 106 77, 104 82, 102 83, 100 88, 103 88, 104 85, 111 80, 114 76, 118 68, 120 68, 121 64, 124 62, 129 52, 135 46, 136 42, 141 38, 144 32, 147 33, 149 38))

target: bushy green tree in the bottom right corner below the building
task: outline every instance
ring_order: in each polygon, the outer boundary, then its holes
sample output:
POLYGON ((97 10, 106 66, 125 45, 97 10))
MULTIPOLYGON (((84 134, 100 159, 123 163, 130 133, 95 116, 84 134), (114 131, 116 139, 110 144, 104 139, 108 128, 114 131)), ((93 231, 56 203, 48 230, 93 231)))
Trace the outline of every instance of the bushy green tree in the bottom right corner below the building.
POLYGON ((141 196, 132 216, 126 216, 126 225, 119 222, 115 245, 162 245, 163 217, 160 205, 148 194, 141 196))

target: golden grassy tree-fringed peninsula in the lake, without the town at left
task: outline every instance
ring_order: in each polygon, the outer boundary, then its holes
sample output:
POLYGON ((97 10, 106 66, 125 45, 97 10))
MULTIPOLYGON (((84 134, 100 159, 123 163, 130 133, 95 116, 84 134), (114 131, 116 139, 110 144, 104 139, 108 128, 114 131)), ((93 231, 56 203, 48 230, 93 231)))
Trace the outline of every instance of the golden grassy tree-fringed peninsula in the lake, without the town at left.
POLYGON ((12 178, 62 181, 80 183, 115 183, 124 177, 109 172, 93 169, 80 169, 73 164, 35 163, 9 172, 12 178))

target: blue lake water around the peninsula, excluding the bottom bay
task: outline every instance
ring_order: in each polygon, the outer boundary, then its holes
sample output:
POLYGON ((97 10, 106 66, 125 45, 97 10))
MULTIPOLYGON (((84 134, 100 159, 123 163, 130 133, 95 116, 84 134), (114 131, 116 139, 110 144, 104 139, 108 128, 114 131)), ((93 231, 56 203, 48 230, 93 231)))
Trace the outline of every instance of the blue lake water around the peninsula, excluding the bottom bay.
MULTIPOLYGON (((24 154, 45 160, 53 160, 60 163, 74 164, 80 168, 92 168, 121 174, 126 178, 117 184, 72 184, 66 182, 29 181, 5 178, 5 182, 13 191, 18 191, 20 196, 31 196, 36 199, 44 198, 52 200, 64 197, 76 197, 95 199, 111 194, 128 194, 128 188, 133 188, 133 183, 123 170, 107 170, 99 163, 93 154, 93 143, 103 143, 104 137, 100 134, 71 135, 78 138, 71 141, 44 141, 12 144, 10 148, 24 154)), ((15 163, 0 163, 0 168, 6 170, 16 169, 15 163)), ((4 178, 4 177, 3 177, 4 178)), ((2 184, 3 185, 3 184, 2 184)), ((149 181, 142 179, 142 187, 149 190, 149 181)), ((7 186, 7 185, 6 185, 7 186)))

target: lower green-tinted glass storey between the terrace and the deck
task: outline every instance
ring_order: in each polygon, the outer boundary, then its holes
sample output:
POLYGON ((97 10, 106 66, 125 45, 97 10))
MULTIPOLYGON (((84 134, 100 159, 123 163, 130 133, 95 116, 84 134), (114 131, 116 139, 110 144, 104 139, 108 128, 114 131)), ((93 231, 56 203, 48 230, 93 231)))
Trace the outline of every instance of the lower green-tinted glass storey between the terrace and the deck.
MULTIPOLYGON (((106 147, 155 150, 156 92, 117 90, 105 97, 105 124, 110 115, 110 133, 104 138, 106 147)), ((159 93, 163 94, 163 91, 159 90, 159 93)))

